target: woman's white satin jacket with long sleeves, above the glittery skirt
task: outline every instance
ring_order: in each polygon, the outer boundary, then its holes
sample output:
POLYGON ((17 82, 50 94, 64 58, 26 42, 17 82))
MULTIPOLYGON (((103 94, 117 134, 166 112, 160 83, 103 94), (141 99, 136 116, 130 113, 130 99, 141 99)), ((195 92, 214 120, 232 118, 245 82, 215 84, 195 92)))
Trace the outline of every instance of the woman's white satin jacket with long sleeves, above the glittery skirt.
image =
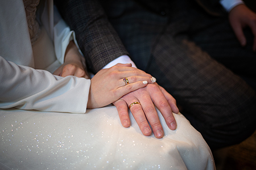
POLYGON ((51 74, 74 33, 52 0, 42 1, 38 11, 42 33, 32 46, 23 1, 0 1, 0 108, 85 113, 90 80, 51 74))

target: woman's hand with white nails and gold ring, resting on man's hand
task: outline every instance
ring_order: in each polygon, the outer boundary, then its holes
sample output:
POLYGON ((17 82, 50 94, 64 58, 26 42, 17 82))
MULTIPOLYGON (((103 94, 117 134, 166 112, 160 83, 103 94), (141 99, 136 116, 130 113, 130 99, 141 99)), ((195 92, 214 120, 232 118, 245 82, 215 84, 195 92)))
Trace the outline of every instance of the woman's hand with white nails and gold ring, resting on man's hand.
POLYGON ((102 69, 91 80, 87 108, 104 107, 155 81, 150 74, 131 67, 131 64, 118 63, 109 69, 102 69), (129 84, 126 85, 124 78, 128 79, 129 84))

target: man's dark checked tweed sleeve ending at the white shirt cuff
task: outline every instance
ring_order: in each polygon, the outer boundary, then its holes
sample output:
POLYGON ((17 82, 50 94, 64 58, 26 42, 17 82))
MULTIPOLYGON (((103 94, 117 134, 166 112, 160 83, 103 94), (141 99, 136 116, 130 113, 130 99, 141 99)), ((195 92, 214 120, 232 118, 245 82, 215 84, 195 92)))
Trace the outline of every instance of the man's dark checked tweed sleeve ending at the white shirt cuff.
POLYGON ((97 0, 56 0, 55 5, 76 32, 90 71, 97 73, 113 59, 128 55, 97 0))

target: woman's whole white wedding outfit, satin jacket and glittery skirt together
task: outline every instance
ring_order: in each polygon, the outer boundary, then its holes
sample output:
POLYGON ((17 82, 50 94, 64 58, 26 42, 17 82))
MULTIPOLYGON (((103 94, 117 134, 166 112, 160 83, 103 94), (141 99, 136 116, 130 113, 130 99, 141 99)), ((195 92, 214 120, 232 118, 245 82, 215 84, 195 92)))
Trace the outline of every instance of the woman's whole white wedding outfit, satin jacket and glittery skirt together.
POLYGON ((31 39, 26 10, 22 0, 0 1, 1 170, 215 169, 207 143, 180 113, 170 130, 158 111, 165 135, 156 139, 142 135, 131 114, 123 128, 114 106, 86 110, 90 80, 51 74, 74 33, 46 0, 31 39))

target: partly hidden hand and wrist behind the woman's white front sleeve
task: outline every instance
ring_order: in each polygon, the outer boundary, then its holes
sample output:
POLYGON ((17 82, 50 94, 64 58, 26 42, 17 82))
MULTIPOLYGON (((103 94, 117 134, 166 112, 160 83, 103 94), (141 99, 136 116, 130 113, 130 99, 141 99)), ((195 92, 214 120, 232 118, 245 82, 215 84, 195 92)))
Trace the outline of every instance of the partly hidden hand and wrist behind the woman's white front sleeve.
POLYGON ((89 75, 85 69, 85 58, 81 56, 73 41, 70 41, 67 46, 63 65, 54 71, 53 74, 63 77, 75 75, 89 79, 89 75))

